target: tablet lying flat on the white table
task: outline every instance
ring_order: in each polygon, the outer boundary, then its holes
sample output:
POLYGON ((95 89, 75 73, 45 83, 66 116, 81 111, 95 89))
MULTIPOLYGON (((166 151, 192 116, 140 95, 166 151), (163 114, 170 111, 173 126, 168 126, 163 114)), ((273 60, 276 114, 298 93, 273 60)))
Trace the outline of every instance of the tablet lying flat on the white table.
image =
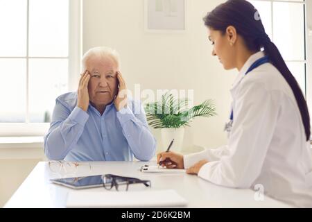
POLYGON ((51 179, 51 182, 73 189, 103 187, 102 175, 51 179))

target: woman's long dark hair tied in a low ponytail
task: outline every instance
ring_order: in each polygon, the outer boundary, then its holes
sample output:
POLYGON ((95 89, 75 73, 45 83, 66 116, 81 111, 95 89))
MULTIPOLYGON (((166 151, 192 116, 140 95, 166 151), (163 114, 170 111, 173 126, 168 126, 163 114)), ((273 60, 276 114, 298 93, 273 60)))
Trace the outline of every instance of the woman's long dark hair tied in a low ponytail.
POLYGON ((309 141, 311 132, 308 105, 297 80, 288 69, 277 46, 271 42, 270 37, 266 34, 257 9, 245 0, 228 0, 208 12, 203 20, 205 26, 220 31, 223 35, 228 26, 234 26, 236 33, 243 37, 245 45, 250 51, 264 49, 264 53, 268 56, 272 65, 279 70, 293 90, 302 117, 306 141, 309 141))

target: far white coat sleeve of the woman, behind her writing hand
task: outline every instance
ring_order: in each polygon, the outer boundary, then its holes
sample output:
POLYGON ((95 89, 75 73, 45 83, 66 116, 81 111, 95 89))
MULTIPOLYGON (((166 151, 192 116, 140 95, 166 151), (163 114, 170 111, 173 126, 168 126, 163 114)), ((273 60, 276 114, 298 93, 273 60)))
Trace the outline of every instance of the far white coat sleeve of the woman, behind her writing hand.
POLYGON ((184 161, 184 168, 187 169, 193 164, 196 164, 196 162, 200 160, 207 160, 209 162, 220 160, 220 157, 223 155, 228 155, 229 149, 228 146, 220 146, 218 148, 205 148, 204 151, 201 151, 199 153, 191 153, 189 155, 183 156, 184 161))

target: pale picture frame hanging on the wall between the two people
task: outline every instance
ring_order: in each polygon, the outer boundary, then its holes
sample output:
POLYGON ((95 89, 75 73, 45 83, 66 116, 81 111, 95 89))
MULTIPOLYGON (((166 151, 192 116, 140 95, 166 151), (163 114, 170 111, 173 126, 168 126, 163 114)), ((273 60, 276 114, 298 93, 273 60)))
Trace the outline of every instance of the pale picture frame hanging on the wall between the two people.
POLYGON ((187 0, 144 0, 144 28, 152 33, 184 33, 187 0))

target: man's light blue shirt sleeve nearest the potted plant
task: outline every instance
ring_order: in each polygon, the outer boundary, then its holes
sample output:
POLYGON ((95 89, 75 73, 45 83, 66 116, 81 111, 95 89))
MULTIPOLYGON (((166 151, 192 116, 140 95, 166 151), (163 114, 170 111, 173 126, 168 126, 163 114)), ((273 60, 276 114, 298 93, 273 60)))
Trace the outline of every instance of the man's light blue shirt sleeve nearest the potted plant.
POLYGON ((133 103, 134 111, 128 105, 116 115, 132 153, 138 160, 148 161, 155 155, 156 140, 148 129, 144 108, 139 103, 133 103))

